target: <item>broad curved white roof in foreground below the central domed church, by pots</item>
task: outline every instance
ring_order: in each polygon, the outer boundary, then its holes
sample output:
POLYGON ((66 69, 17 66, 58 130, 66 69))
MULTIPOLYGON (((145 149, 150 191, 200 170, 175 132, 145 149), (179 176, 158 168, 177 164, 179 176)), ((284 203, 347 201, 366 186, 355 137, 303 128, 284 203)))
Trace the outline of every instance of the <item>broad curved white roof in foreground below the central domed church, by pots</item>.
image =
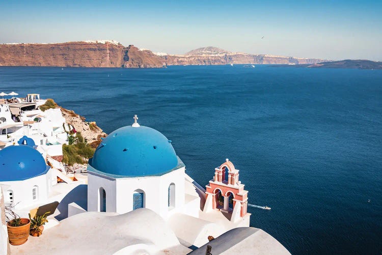
POLYGON ((87 212, 60 221, 39 238, 29 238, 17 254, 186 254, 166 222, 141 208, 126 214, 87 212))

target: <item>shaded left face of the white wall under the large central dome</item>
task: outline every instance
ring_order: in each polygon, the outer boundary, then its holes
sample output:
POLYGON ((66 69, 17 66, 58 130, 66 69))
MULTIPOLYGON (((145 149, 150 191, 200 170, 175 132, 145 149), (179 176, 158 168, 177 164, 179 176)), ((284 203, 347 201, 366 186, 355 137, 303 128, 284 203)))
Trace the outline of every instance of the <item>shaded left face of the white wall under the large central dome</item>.
POLYGON ((99 188, 106 192, 106 212, 116 212, 116 180, 88 172, 88 211, 99 212, 99 188))

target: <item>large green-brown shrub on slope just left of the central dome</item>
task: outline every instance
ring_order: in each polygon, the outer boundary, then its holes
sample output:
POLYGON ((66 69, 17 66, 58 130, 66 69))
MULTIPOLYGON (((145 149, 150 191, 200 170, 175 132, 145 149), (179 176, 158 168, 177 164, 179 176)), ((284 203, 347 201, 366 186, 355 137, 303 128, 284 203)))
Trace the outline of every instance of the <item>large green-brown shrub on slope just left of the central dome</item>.
POLYGON ((93 157, 94 149, 85 142, 81 132, 77 132, 73 140, 69 145, 63 144, 62 146, 63 162, 67 165, 86 163, 89 158, 93 157))

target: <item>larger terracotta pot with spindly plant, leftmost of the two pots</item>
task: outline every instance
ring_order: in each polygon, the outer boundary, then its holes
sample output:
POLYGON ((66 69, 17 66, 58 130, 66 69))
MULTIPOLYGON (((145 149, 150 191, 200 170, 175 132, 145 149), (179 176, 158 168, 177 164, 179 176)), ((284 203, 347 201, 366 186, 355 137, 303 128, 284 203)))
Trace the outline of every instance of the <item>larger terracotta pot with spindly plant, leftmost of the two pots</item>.
POLYGON ((29 237, 29 228, 31 220, 20 218, 12 211, 13 207, 5 207, 5 216, 7 221, 8 239, 12 245, 25 243, 29 237))

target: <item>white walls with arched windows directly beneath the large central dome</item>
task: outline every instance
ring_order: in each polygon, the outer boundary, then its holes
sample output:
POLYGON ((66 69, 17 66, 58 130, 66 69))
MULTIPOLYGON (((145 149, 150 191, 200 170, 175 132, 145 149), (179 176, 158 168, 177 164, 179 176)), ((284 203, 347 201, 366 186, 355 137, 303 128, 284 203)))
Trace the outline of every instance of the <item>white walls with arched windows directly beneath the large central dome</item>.
POLYGON ((99 188, 106 192, 106 212, 127 213, 133 209, 133 193, 143 190, 144 207, 162 218, 184 211, 184 167, 161 176, 113 179, 88 173, 88 211, 99 211, 99 188), (175 208, 168 207, 168 189, 175 184, 175 208))

